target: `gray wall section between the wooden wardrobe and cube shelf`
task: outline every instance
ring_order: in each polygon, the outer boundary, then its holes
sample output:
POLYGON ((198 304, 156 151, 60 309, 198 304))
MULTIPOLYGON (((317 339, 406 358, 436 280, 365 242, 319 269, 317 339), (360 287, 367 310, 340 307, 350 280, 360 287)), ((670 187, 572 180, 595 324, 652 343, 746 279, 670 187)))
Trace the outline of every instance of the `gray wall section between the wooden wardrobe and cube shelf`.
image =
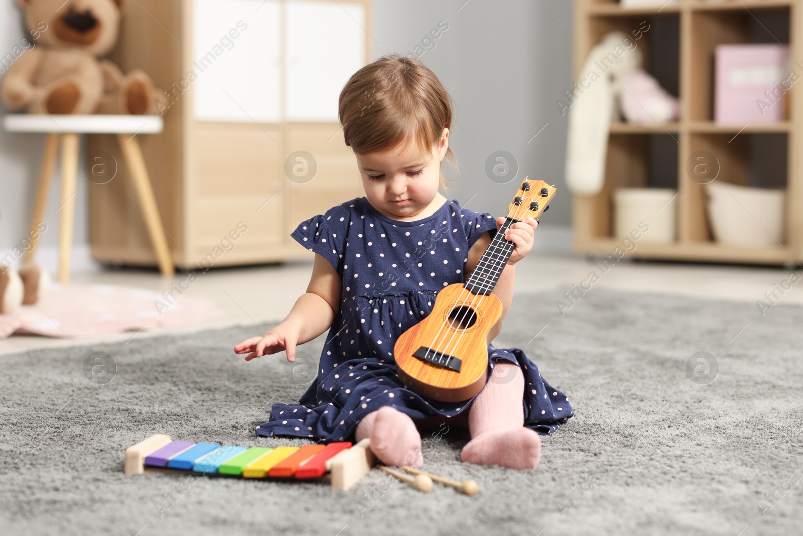
MULTIPOLYGON (((390 52, 413 54, 438 21, 449 24, 434 49, 420 59, 456 104, 450 143, 461 178, 450 185, 454 189, 450 197, 465 204, 477 194, 469 208, 506 214, 515 182, 492 182, 485 163, 497 150, 512 153, 519 163, 517 179, 528 175, 558 188, 536 237, 548 226, 557 227, 555 220, 567 229, 571 222, 563 178, 567 121, 555 101, 571 88, 572 4, 567 0, 376 3, 373 44, 377 58, 390 52)), ((446 177, 454 175, 446 173, 446 177)), ((554 235, 557 240, 561 236, 565 244, 571 241, 565 231, 554 235)))

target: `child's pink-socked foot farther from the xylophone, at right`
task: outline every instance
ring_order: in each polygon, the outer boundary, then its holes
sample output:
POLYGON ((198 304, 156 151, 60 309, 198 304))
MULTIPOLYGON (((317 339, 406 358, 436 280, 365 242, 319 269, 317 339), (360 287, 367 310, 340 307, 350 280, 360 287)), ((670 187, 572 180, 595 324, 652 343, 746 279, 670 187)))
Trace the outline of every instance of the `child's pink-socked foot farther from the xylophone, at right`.
POLYGON ((460 459, 470 464, 532 469, 538 464, 541 440, 530 428, 490 430, 469 441, 460 459))

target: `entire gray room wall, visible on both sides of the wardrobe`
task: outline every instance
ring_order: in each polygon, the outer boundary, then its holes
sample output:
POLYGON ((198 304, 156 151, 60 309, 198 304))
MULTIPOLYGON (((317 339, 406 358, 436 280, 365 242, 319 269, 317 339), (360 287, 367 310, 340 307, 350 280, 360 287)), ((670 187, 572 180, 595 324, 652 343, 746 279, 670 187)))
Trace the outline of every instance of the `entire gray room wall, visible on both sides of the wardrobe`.
MULTIPOLYGON (((175 1, 175 0, 170 0, 175 1)), ((373 47, 376 58, 390 52, 413 54, 414 47, 438 21, 449 29, 420 59, 440 78, 456 103, 450 135, 461 178, 450 198, 475 211, 507 213, 514 182, 500 185, 485 174, 485 162, 497 150, 519 163, 517 179, 529 175, 558 187, 556 201, 536 238, 547 247, 567 248, 569 191, 565 188, 566 118, 555 100, 571 86, 572 2, 568 0, 375 0, 373 47), (562 25, 562 26, 561 26, 562 25), (541 133, 532 136, 545 124, 541 133), (476 194, 476 195, 475 195, 476 194)), ((22 39, 22 23, 11 0, 0 0, 0 52, 22 39)), ((35 194, 43 136, 0 132, 0 256, 27 232, 35 194)), ((83 161, 83 158, 82 158, 83 161)), ((446 173, 449 178, 454 174, 446 173)), ((58 178, 56 178, 58 180, 58 178)), ((518 182, 518 181, 516 181, 518 182)), ((51 191, 43 264, 55 272, 59 188, 51 191)), ((90 265, 87 180, 79 174, 74 268, 90 265)))

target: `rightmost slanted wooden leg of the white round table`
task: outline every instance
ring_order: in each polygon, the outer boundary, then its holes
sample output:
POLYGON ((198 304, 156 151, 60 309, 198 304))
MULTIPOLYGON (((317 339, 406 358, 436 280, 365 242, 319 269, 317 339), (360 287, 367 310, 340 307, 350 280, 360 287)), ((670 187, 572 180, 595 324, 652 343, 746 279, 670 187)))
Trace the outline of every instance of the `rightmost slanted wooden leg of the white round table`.
POLYGON ((142 158, 142 149, 136 136, 120 134, 117 139, 120 141, 120 149, 123 149, 125 160, 128 162, 128 172, 136 190, 138 202, 142 209, 142 216, 145 219, 145 227, 148 229, 153 249, 156 251, 159 271, 162 276, 172 276, 173 258, 170 256, 165 239, 165 228, 161 225, 159 210, 156 199, 153 197, 148 170, 145 167, 145 160, 142 158))

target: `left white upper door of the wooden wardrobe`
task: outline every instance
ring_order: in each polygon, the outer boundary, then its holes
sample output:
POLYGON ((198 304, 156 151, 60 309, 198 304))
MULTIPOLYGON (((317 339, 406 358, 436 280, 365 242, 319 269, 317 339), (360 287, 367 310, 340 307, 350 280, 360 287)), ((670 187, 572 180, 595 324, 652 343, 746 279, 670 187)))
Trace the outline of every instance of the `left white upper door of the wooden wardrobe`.
POLYGON ((195 121, 279 121, 279 0, 194 0, 195 121))

